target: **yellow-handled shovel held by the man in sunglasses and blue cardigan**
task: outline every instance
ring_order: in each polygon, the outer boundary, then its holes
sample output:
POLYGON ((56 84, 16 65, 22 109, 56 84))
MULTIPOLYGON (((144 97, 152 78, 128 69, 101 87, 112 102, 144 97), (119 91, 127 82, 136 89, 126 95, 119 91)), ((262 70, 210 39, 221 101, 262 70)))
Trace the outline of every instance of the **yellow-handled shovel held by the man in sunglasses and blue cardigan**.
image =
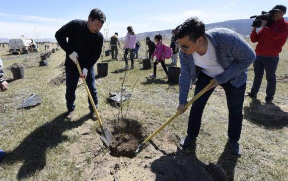
MULTIPOLYGON (((185 104, 184 109, 188 108, 192 103, 194 103, 200 96, 202 96, 207 89, 212 86, 213 82, 210 82, 206 87, 204 87, 196 96, 194 96, 187 104, 185 104)), ((144 145, 150 141, 150 139, 152 139, 156 134, 158 134, 162 129, 164 129, 164 127, 166 127, 171 121, 173 121, 178 115, 180 115, 181 112, 177 111, 171 118, 169 118, 169 120, 167 120, 166 122, 164 122, 156 131, 154 131, 147 139, 145 139, 143 141, 143 143, 141 143, 136 151, 135 151, 135 155, 138 154, 142 148, 144 147, 144 145)))

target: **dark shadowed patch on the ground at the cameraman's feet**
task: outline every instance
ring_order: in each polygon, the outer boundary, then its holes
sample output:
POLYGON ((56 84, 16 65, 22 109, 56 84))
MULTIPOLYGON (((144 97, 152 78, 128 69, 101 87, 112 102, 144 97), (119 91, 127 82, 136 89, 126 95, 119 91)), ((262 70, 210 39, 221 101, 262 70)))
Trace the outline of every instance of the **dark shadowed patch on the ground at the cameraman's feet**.
POLYGON ((244 118, 267 129, 282 129, 288 125, 288 113, 276 105, 261 105, 258 99, 252 99, 249 106, 243 108, 244 118))

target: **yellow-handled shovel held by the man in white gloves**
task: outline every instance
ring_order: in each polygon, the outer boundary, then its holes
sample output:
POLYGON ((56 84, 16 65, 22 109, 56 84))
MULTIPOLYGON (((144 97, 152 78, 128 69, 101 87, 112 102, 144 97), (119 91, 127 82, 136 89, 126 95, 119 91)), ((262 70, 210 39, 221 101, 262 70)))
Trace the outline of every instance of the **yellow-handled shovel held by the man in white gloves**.
MULTIPOLYGON (((76 64, 76 65, 77 65, 77 68, 78 68, 78 71, 79 71, 80 75, 82 75, 82 70, 81 70, 81 68, 80 68, 80 65, 79 65, 79 62, 78 62, 78 61, 77 61, 77 64, 76 64)), ((94 103, 94 101, 93 101, 93 99, 92 99, 91 93, 90 93, 90 91, 89 91, 89 88, 88 88, 88 86, 87 86, 87 83, 86 83, 86 80, 85 80, 84 77, 82 77, 82 81, 83 81, 83 83, 84 83, 84 87, 85 87, 85 89, 86 89, 86 91, 87 91, 89 100, 90 100, 90 102, 91 102, 91 104, 92 104, 93 110, 94 110, 94 112, 95 112, 95 114, 96 114, 96 116, 97 116, 97 120, 98 120, 98 122, 99 122, 99 124, 100 124, 100 127, 101 127, 102 134, 101 134, 100 139, 107 145, 107 147, 109 147, 110 142, 111 142, 111 139, 112 139, 112 133, 111 133, 111 131, 110 131, 108 128, 104 129, 103 124, 102 124, 102 121, 101 121, 101 119, 100 119, 100 117, 99 117, 98 111, 97 111, 97 109, 96 109, 95 103, 94 103)))

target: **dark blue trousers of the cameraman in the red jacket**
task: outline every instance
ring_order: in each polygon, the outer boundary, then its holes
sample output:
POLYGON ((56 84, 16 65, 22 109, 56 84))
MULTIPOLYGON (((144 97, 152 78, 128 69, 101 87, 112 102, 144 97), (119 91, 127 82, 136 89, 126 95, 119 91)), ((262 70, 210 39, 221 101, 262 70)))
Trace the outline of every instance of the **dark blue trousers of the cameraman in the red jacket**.
POLYGON ((273 100, 276 92, 276 69, 279 62, 279 57, 261 57, 257 56, 256 60, 253 62, 254 66, 254 81, 251 88, 251 94, 257 95, 264 69, 266 72, 267 88, 266 88, 266 98, 265 100, 273 100))

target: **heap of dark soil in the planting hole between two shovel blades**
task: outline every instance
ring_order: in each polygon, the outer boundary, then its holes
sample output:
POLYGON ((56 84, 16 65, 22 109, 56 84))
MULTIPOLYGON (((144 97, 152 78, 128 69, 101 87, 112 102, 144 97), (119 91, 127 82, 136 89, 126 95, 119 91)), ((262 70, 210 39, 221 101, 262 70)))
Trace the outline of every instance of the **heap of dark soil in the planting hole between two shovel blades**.
POLYGON ((136 137, 130 133, 116 134, 112 137, 110 144, 111 155, 133 158, 138 144, 136 137))

